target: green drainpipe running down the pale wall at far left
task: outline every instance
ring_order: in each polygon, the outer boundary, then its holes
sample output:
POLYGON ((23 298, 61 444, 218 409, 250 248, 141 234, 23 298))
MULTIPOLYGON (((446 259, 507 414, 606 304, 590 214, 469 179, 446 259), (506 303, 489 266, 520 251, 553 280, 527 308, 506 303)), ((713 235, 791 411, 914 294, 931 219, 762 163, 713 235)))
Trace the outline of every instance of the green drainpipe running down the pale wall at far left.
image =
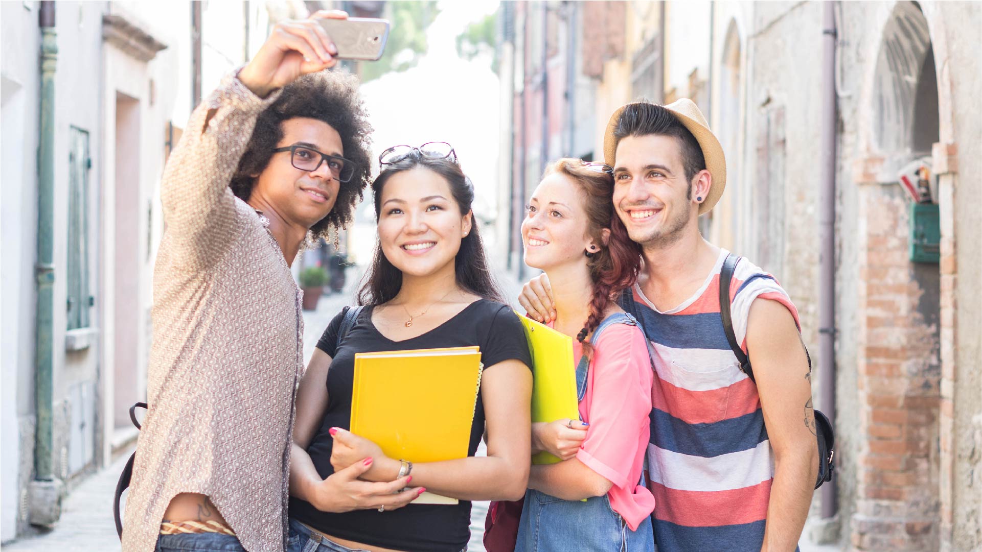
POLYGON ((54 468, 54 196, 55 196, 55 3, 41 2, 40 109, 37 144, 37 304, 34 316, 34 480, 29 485, 31 525, 50 527, 61 517, 64 484, 54 468))

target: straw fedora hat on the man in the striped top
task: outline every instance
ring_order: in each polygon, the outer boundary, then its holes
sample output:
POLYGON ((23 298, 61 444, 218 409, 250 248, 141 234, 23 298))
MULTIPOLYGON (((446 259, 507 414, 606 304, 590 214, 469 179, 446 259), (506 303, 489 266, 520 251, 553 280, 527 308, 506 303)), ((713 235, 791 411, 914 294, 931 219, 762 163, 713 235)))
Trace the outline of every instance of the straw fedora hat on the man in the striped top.
MULTIPOLYGON (((614 154, 617 153, 617 141, 614 139, 614 129, 617 128, 618 120, 621 118, 624 108, 635 104, 650 103, 633 102, 621 106, 614 112, 607 123, 607 130, 604 132, 604 163, 616 167, 614 154)), ((688 128, 688 131, 699 142, 699 147, 702 148, 702 156, 706 160, 706 169, 713 176, 713 183, 709 188, 709 193, 706 194, 705 201, 699 205, 699 215, 709 213, 716 202, 720 200, 720 196, 723 195, 723 188, 727 186, 727 161, 723 156, 723 147, 720 145, 720 141, 716 139, 713 131, 709 129, 706 118, 702 116, 702 112, 692 103, 692 100, 681 98, 662 107, 671 112, 682 125, 688 128)))

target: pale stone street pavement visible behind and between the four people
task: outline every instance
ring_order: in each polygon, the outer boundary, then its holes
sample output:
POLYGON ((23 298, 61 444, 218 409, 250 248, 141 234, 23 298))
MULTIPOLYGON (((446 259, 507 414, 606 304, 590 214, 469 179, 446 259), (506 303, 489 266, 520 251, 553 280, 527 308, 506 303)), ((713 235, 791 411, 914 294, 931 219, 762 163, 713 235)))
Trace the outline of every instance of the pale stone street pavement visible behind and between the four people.
MULTIPOLYGON (((503 272, 499 274, 504 274, 503 272)), ((343 293, 324 295, 317 305, 317 310, 303 313, 303 353, 305 359, 310 357, 317 339, 331 319, 346 305, 354 304, 356 284, 359 271, 349 272, 348 285, 343 293)), ((500 277, 500 283, 508 297, 518 297, 520 285, 513 276, 500 277)), ((514 301, 518 306, 518 301, 514 301)), ((485 453, 481 444, 478 455, 485 453)), ((123 470, 130 452, 121 456, 109 468, 88 477, 76 487, 65 500, 62 519, 53 530, 39 533, 36 536, 22 538, 9 544, 4 544, 4 552, 116 552, 120 550, 116 527, 112 518, 112 498, 116 489, 116 480, 123 470)), ((484 530, 484 518, 487 515, 487 502, 474 502, 471 510, 470 543, 468 552, 481 552, 481 536, 484 530)), ((805 535, 808 534, 807 527, 805 535)), ((834 552, 835 546, 818 546, 801 542, 801 552, 834 552)))

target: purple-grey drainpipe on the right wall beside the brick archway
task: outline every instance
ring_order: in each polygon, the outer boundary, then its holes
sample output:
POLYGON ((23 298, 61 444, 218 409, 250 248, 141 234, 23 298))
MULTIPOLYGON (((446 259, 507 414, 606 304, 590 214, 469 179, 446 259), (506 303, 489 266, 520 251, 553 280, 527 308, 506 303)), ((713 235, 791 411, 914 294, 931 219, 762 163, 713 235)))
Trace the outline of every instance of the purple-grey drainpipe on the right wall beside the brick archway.
MULTIPOLYGON (((836 424, 836 22, 835 2, 823 6, 822 25, 822 183, 818 192, 819 251, 818 361, 819 406, 836 424)), ((836 480, 822 485, 822 518, 838 510, 836 480)))

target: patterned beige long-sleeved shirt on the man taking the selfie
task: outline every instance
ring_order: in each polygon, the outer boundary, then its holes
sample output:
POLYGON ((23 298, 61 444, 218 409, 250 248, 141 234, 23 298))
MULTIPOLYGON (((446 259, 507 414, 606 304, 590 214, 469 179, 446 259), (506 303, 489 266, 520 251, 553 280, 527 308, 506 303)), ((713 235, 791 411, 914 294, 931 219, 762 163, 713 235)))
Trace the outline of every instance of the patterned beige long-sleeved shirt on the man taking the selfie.
POLYGON ((277 95, 260 99, 226 76, 191 114, 164 171, 149 411, 126 504, 126 552, 154 549, 164 511, 182 492, 210 496, 250 552, 286 542, 300 289, 272 234, 228 187, 256 116, 277 95))

